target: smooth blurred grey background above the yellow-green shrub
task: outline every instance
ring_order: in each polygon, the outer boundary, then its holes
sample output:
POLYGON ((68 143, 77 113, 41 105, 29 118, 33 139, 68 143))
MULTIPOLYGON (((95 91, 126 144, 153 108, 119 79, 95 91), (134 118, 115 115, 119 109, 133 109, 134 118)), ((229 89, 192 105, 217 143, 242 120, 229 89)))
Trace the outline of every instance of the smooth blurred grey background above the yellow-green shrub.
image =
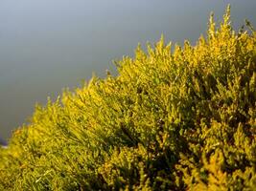
POLYGON ((45 104, 114 71, 113 59, 133 55, 138 42, 195 43, 210 11, 221 19, 231 4, 234 28, 256 26, 255 0, 0 0, 0 138, 45 104))

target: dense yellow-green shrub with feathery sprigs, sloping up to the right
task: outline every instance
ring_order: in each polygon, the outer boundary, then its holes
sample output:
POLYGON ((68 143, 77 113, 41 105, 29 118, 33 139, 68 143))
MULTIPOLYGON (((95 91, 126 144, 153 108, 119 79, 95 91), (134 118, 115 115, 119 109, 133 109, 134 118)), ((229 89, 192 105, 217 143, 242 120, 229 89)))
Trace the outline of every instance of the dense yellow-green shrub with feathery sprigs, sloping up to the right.
POLYGON ((0 190, 255 189, 256 33, 229 16, 36 106, 0 150, 0 190))

